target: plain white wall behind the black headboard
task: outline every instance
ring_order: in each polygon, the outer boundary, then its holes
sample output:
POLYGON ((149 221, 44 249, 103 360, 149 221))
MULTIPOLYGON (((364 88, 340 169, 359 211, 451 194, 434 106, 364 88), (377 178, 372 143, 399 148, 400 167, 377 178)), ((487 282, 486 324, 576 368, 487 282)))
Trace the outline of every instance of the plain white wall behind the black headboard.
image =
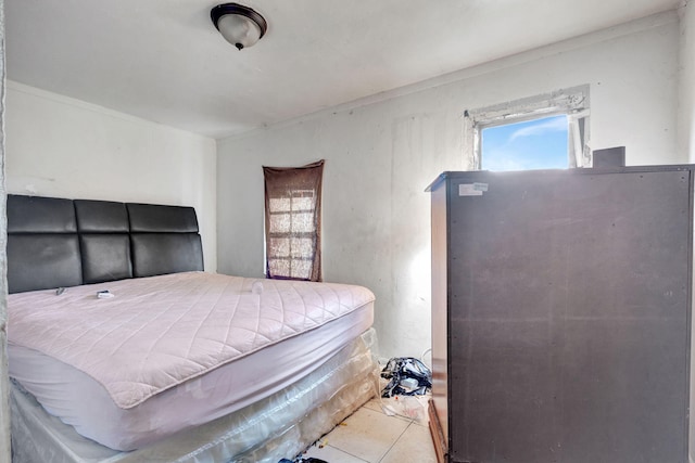
POLYGON ((16 82, 5 108, 9 193, 193 206, 216 271, 213 139, 16 82))

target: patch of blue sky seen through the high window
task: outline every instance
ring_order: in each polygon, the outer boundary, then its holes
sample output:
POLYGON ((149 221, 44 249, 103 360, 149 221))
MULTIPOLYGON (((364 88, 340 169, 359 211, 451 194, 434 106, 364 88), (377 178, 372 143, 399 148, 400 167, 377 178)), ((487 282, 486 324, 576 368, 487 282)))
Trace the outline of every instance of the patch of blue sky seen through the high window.
POLYGON ((483 170, 566 169, 567 116, 551 116, 481 130, 483 170))

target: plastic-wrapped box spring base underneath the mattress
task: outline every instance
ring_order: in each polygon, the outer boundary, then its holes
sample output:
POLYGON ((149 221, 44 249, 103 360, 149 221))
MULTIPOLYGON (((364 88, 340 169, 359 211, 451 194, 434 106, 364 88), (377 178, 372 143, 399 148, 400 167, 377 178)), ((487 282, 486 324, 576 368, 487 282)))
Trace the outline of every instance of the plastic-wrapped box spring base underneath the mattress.
POLYGON ((79 436, 12 383, 13 463, 277 463, 293 459, 378 395, 370 329, 291 386, 152 446, 118 452, 79 436))

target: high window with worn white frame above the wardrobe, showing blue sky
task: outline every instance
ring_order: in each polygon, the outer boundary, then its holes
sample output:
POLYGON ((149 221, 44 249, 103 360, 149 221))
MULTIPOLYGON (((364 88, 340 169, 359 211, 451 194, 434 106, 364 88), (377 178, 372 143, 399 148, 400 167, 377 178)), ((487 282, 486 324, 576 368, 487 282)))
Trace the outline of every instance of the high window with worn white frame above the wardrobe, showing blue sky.
POLYGON ((465 121, 475 169, 591 167, 587 86, 466 111, 465 121))

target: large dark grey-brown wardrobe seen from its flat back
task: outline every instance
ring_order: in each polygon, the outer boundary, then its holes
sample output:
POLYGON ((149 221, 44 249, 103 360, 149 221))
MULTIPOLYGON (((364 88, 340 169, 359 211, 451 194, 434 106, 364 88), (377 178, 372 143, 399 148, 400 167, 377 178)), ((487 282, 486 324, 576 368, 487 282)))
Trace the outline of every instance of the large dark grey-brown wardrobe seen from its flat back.
POLYGON ((432 183, 440 461, 688 461, 693 168, 432 183))

